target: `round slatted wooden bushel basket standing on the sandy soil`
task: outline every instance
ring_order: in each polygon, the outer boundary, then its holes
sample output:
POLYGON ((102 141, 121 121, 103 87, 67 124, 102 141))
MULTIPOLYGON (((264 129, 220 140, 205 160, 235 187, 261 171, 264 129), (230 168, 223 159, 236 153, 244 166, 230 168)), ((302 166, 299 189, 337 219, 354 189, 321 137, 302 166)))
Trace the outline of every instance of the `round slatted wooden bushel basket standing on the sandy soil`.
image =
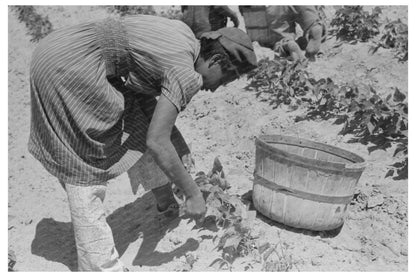
POLYGON ((285 225, 314 231, 344 223, 364 171, 364 159, 305 139, 265 135, 256 139, 254 207, 285 225))

